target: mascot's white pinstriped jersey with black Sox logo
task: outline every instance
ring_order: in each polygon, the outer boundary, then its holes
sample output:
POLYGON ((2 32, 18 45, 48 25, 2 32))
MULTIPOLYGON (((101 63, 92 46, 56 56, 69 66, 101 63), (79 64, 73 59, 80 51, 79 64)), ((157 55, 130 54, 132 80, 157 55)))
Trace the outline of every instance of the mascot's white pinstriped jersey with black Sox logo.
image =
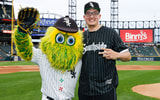
POLYGON ((66 100, 74 97, 75 86, 81 70, 81 59, 77 63, 74 71, 61 73, 50 66, 47 56, 41 49, 33 47, 32 62, 39 65, 42 78, 41 92, 42 100, 47 100, 44 96, 49 96, 54 100, 66 100))

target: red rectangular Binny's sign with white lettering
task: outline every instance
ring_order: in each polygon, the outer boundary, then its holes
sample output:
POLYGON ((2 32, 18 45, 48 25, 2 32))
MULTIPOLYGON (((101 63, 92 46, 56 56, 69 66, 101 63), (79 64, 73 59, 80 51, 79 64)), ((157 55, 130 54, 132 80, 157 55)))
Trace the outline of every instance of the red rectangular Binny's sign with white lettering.
POLYGON ((120 37, 125 43, 152 43, 153 29, 122 29, 120 37))

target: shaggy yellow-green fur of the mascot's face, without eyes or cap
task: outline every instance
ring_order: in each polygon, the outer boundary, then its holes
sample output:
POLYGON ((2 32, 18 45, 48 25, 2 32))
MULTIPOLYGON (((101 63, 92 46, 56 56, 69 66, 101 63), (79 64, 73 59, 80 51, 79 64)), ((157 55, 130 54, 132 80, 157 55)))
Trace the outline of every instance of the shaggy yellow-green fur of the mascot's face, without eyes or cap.
POLYGON ((40 48, 42 52, 47 55, 51 66, 64 71, 73 69, 79 58, 82 56, 82 33, 66 33, 59 31, 54 27, 50 27, 47 30, 46 36, 41 39, 40 48), (64 36, 63 43, 58 43, 56 41, 56 36, 58 36, 58 34, 64 36), (70 36, 73 36, 75 39, 73 45, 67 43, 70 36))

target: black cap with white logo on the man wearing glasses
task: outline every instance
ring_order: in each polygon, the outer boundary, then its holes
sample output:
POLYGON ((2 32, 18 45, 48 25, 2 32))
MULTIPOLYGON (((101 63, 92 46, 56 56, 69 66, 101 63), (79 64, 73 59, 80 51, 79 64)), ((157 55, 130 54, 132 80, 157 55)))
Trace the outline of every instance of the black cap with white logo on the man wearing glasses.
POLYGON ((84 6, 84 13, 86 13, 86 11, 91 8, 97 9, 100 12, 99 4, 97 2, 90 1, 90 2, 86 3, 84 6))

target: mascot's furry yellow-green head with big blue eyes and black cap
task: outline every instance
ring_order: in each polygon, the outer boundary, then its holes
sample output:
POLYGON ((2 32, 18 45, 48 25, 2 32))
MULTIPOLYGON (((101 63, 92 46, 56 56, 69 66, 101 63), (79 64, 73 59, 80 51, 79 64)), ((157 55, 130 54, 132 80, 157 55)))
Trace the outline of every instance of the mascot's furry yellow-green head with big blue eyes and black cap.
POLYGON ((40 48, 51 67, 62 72, 73 70, 83 52, 83 36, 76 22, 68 16, 56 21, 41 39, 40 48))

